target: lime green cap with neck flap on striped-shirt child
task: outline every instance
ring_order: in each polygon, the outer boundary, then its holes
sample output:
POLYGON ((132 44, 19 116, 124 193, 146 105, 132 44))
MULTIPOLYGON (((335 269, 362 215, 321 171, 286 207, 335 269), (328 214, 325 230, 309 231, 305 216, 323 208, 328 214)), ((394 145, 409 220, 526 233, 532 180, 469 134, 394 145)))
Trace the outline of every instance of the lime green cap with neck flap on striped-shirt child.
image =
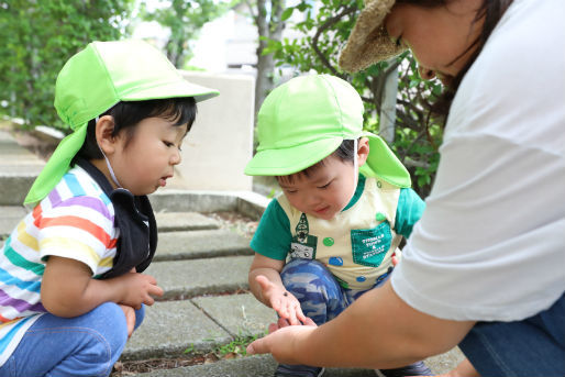
POLYGON ((136 41, 92 42, 74 55, 55 84, 55 109, 74 131, 57 146, 35 179, 24 204, 45 198, 69 169, 85 143, 87 124, 120 101, 193 97, 197 102, 218 96, 182 78, 151 44, 136 41))

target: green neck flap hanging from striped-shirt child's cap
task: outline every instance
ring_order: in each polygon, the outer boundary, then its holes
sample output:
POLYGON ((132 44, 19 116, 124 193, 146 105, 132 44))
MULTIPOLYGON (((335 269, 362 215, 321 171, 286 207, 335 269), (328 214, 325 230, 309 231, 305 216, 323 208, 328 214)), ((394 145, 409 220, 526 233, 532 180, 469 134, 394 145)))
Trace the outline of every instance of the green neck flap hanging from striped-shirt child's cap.
POLYGON ((33 181, 23 203, 32 204, 45 198, 67 173, 73 157, 85 143, 87 124, 81 124, 75 132, 63 138, 45 167, 33 181))

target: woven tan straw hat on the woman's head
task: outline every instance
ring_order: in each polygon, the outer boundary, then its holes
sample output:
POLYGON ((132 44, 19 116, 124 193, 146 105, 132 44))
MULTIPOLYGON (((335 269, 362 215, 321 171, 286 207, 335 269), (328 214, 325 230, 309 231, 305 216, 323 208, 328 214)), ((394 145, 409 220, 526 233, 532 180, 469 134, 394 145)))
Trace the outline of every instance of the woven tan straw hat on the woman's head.
POLYGON ((340 67, 356 73, 407 49, 390 40, 383 22, 395 0, 365 0, 347 44, 340 55, 340 67))

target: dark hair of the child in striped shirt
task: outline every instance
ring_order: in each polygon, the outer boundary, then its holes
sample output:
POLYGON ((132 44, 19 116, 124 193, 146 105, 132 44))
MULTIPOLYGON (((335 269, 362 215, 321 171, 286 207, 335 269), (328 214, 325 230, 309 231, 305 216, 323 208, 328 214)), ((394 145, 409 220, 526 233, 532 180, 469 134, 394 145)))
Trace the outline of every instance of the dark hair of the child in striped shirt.
MULTIPOLYGON (((112 136, 121 131, 125 132, 125 147, 135 135, 135 126, 146 118, 163 118, 174 121, 174 125, 188 124, 190 131, 197 113, 196 101, 192 97, 167 98, 146 101, 122 101, 110 108, 102 115, 111 115, 114 119, 112 136)), ((71 165, 78 158, 100 159, 103 158, 96 141, 96 120, 90 120, 87 126, 85 143, 73 158, 71 165)))

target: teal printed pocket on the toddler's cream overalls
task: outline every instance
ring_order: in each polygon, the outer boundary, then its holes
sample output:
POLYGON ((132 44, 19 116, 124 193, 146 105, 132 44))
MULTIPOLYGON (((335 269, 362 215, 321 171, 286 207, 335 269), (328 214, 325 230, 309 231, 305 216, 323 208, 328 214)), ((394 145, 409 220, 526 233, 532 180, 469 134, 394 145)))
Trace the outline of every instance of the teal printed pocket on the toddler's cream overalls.
POLYGON ((378 267, 390 248, 392 233, 388 221, 374 229, 351 231, 353 262, 358 265, 378 267))

